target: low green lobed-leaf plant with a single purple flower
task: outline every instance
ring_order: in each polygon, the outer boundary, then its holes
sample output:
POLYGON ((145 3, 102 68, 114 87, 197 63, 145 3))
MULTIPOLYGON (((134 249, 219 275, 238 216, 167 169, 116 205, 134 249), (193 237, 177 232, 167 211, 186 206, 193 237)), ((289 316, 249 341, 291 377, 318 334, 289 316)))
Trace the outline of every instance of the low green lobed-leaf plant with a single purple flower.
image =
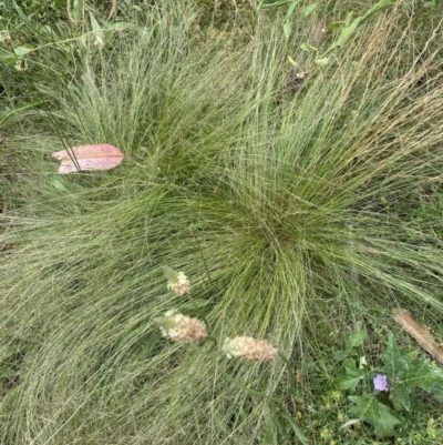
POLYGON ((347 337, 344 351, 334 354, 343 366, 337 388, 351 394, 348 398, 353 403, 349 409, 353 418, 342 428, 365 422, 378 437, 394 436, 395 426, 404 419, 401 413, 413 408, 415 390, 426 391, 443 402, 443 370, 421 357, 419 350, 400 348, 391 332, 387 348, 380 354, 382 364, 371 366, 367 356, 361 355, 367 338, 364 328, 357 330, 347 337))

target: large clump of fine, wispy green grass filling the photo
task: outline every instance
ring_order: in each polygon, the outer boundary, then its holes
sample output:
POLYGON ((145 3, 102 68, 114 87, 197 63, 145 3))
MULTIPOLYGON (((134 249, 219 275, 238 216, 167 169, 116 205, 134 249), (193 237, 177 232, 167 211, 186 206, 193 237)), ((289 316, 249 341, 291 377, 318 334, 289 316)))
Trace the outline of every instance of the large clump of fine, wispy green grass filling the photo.
MULTIPOLYGON (((368 316, 410 301, 442 310, 441 241, 396 211, 441 185, 435 33, 395 65, 408 29, 380 18, 329 71, 282 97, 278 23, 259 22, 248 45, 226 54, 165 27, 164 13, 58 87, 52 136, 8 142, 21 180, 0 266, 16 373, 4 444, 267 437, 271 402, 225 376, 286 394, 285 364, 228 370, 205 346, 162 341, 154 317, 190 314, 189 299, 218 337, 268 338, 300 372, 308 353, 326 360, 318 326, 341 327, 353 306, 368 316), (60 133, 72 145, 115 144, 127 159, 59 178, 49 155, 63 148, 60 133), (164 264, 186 272, 189 297, 167 292, 164 264)), ((289 439, 291 424, 279 422, 275 441, 289 439)))

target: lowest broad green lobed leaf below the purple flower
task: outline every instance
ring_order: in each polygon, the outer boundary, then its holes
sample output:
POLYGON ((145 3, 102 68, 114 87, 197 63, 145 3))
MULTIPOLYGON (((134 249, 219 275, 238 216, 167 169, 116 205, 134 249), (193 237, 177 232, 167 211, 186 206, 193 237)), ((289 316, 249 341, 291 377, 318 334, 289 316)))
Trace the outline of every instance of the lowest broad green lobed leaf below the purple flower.
POLYGON ((349 409, 350 414, 372 425, 378 437, 391 437, 395 434, 395 425, 400 425, 401 422, 389 406, 370 395, 348 398, 356 404, 349 409))

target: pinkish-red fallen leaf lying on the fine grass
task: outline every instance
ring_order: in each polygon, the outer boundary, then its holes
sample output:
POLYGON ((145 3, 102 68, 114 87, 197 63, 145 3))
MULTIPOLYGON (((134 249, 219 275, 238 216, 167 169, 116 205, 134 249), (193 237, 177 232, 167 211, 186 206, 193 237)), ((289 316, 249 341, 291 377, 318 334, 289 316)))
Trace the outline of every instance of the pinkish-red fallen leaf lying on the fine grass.
POLYGON ((52 153, 61 161, 59 173, 72 173, 80 170, 110 170, 117 166, 124 154, 113 145, 94 144, 72 146, 52 153))

